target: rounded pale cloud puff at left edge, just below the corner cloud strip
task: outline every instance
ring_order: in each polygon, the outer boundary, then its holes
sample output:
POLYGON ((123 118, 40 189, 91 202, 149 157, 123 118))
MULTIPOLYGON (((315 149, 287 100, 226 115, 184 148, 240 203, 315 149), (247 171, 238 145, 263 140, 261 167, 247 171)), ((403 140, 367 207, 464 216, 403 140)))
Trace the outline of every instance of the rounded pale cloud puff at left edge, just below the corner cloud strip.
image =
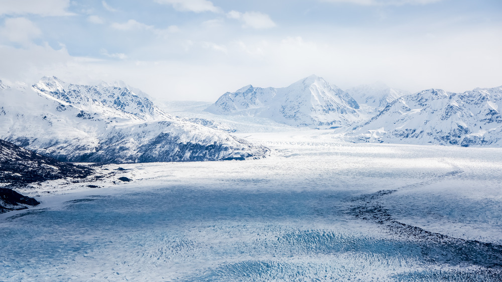
POLYGON ((42 31, 26 18, 9 18, 0 28, 0 35, 9 42, 28 45, 42 35, 42 31))

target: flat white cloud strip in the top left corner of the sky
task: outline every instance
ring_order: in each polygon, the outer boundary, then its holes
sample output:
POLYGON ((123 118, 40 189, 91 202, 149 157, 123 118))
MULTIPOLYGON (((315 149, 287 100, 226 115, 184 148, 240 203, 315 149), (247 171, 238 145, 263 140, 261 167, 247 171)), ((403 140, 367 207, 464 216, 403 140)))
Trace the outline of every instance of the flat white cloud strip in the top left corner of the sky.
POLYGON ((40 15, 40 16, 72 16, 66 11, 70 0, 2 0, 0 16, 2 15, 40 15))

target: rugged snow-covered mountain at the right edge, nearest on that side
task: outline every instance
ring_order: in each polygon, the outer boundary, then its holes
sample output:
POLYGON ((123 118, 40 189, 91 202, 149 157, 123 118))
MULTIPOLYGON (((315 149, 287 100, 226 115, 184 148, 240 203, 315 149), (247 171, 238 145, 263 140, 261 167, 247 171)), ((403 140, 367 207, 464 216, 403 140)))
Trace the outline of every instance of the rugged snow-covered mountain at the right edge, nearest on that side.
POLYGON ((365 142, 502 146, 502 86, 402 96, 349 135, 365 142))

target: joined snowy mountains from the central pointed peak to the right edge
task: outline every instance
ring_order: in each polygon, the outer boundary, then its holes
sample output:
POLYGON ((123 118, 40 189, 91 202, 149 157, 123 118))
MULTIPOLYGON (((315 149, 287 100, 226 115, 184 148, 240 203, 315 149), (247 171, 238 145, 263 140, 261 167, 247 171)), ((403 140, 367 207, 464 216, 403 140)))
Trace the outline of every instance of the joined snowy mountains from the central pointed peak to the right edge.
POLYGON ((382 84, 346 91, 310 76, 285 88, 245 86, 206 111, 268 117, 294 126, 336 128, 351 142, 502 146, 502 86, 414 94, 382 84))

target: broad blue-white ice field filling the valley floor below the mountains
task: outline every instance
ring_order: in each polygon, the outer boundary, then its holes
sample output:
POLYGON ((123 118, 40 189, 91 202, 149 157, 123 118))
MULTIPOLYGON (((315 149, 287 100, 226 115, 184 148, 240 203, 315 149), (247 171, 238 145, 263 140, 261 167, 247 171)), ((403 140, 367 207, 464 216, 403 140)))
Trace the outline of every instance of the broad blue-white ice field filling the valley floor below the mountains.
POLYGON ((42 204, 0 215, 0 280, 502 280, 502 149, 240 136, 274 153, 23 191, 42 204))

